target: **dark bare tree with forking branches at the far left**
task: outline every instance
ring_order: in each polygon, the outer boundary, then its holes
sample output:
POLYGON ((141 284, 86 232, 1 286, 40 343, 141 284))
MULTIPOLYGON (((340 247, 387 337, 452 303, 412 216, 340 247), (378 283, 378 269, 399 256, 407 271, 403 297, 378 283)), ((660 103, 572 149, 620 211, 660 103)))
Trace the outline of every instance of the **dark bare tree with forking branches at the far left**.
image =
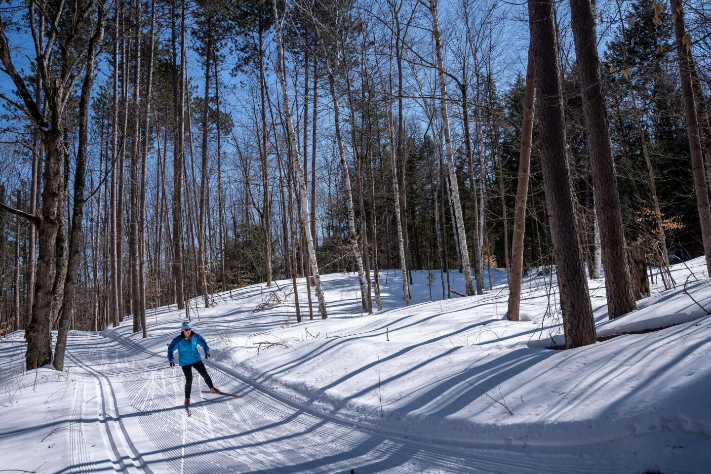
POLYGON ((8 43, 6 23, 0 18, 0 63, 3 72, 10 77, 17 89, 19 102, 0 94, 3 99, 17 112, 25 115, 37 127, 45 149, 43 169, 42 207, 39 215, 31 215, 20 210, 8 208, 18 215, 26 217, 38 230, 39 258, 37 262, 37 280, 33 298, 32 319, 26 330, 27 352, 26 367, 28 370, 41 367, 50 363, 52 358, 50 328, 53 315, 58 313, 58 294, 63 289, 63 276, 61 259, 58 258, 58 246, 63 249, 63 244, 58 238, 63 239, 60 224, 63 215, 62 208, 64 190, 63 162, 64 162, 64 122, 66 106, 70 99, 73 85, 82 71, 87 69, 90 56, 77 45, 87 27, 95 25, 97 18, 104 10, 104 4, 85 4, 82 2, 60 2, 48 5, 44 11, 48 18, 48 28, 38 24, 36 5, 28 5, 28 21, 30 33, 35 50, 32 60, 33 69, 41 76, 42 87, 48 106, 49 117, 45 117, 38 107, 26 84, 26 77, 15 67, 11 56, 11 46, 8 43), (65 27, 66 26, 66 27, 65 27), (39 28, 44 28, 46 33, 45 43, 40 42, 39 28), (63 48, 54 48, 55 41, 60 41, 63 48), (46 119, 47 118, 47 119, 46 119), (57 285, 57 281, 61 284, 57 285))

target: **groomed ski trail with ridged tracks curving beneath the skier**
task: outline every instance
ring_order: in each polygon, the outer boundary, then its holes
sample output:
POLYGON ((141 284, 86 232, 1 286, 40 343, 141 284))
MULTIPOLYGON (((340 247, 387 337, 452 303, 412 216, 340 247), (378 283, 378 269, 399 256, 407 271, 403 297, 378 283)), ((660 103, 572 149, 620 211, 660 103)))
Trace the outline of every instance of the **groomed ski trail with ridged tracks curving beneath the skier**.
MULTIPOLYGON (((183 376, 164 355, 146 352, 110 330, 70 333, 71 370, 99 384, 111 463, 69 472, 125 473, 535 473, 547 460, 525 452, 445 446, 359 426, 250 384, 208 362, 215 387, 242 399, 210 397, 193 379, 188 418, 183 376)), ((433 440, 436 441, 436 440, 433 440)), ((81 457, 85 459, 84 456, 81 457)), ((550 460, 550 458, 547 458, 550 460)), ((555 456, 547 472, 589 472, 577 456, 555 456), (585 467, 582 468, 582 465, 585 467)), ((66 471, 65 471, 66 472, 66 471)), ((610 472, 610 471, 608 471, 610 472)))

